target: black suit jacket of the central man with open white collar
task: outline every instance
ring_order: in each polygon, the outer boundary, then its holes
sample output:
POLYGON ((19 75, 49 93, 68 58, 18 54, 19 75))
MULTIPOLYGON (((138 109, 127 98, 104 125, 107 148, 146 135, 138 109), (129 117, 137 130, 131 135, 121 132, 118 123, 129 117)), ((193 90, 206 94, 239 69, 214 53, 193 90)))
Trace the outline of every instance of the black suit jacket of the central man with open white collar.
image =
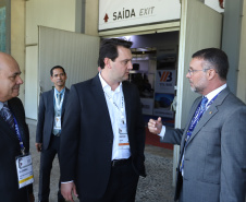
MULTIPOLYGON (((135 85, 123 82, 127 132, 137 175, 145 176, 145 126, 135 85)), ((61 181, 75 180, 78 195, 97 199, 111 171, 113 131, 99 76, 71 87, 61 133, 61 181)))

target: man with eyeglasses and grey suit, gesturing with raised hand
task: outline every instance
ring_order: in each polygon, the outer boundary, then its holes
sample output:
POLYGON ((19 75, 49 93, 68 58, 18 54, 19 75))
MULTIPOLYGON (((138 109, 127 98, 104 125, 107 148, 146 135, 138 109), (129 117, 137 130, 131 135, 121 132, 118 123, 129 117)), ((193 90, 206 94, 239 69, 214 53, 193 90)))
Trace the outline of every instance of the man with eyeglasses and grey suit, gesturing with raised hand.
POLYGON ((184 129, 150 119, 149 131, 181 145, 174 200, 244 202, 246 194, 246 106, 226 86, 227 56, 207 48, 193 55, 186 78, 199 93, 184 129))

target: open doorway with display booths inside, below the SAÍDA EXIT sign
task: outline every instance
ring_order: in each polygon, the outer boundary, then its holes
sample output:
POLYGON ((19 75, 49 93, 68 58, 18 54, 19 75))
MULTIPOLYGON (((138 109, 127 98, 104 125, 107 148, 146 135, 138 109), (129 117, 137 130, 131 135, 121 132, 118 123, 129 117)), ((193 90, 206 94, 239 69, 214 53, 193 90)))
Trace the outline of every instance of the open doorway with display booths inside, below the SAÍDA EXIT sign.
MULTIPOLYGON (((121 38, 133 41, 130 82, 139 91, 146 126, 150 118, 161 117, 165 126, 174 128, 179 31, 121 38)), ((151 134, 148 129, 146 143, 173 150, 172 144, 160 143, 159 136, 151 134)))

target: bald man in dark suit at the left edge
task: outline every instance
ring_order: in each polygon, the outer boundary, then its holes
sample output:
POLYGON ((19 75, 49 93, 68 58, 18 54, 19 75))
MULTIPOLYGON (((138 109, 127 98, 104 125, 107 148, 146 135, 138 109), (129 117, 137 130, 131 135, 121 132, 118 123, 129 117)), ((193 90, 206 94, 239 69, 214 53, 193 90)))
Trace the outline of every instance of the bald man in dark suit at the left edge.
MULTIPOLYGON (((15 163, 19 161, 22 166, 22 159, 29 159, 29 131, 23 104, 17 98, 23 84, 20 75, 14 58, 0 52, 0 201, 4 202, 34 201, 33 185, 20 182, 20 168, 15 163)), ((28 164, 26 166, 29 168, 28 164)))

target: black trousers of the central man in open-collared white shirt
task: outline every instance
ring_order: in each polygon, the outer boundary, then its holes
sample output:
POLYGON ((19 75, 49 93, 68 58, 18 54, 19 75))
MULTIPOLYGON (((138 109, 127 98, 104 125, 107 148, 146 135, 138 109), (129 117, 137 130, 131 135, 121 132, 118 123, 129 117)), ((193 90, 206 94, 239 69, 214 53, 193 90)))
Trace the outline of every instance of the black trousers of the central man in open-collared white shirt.
POLYGON ((82 202, 134 202, 139 176, 134 171, 132 162, 112 166, 104 195, 99 200, 81 199, 82 202))

